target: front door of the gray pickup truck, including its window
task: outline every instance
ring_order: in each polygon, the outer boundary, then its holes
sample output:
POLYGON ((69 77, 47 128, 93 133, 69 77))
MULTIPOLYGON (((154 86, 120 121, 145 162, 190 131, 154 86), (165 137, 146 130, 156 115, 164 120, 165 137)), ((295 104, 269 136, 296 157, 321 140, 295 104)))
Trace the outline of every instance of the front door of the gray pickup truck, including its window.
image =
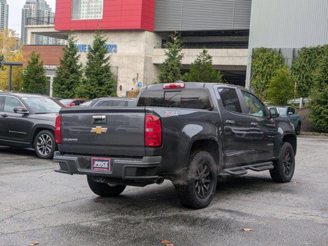
POLYGON ((256 161, 273 157, 276 126, 268 109, 252 93, 239 90, 242 95, 243 111, 249 127, 248 160, 256 161))

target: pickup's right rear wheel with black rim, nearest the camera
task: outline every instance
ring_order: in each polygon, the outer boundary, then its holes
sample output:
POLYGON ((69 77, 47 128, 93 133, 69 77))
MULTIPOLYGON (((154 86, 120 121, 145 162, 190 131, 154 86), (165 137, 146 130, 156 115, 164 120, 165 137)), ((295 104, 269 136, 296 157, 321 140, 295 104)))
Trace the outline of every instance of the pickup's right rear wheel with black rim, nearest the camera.
POLYGON ((183 184, 175 182, 175 188, 183 206, 202 209, 208 206, 217 187, 217 170, 213 157, 205 151, 193 152, 183 184))

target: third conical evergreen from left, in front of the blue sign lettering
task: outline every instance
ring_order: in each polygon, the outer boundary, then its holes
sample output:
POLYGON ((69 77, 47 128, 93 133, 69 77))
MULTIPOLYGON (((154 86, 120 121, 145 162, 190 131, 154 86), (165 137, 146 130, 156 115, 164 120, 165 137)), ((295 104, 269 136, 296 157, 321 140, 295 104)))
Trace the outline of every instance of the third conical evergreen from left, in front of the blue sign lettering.
POLYGON ((106 41, 103 32, 97 30, 87 54, 83 82, 76 90, 78 97, 93 99, 116 95, 117 81, 110 70, 110 56, 108 47, 105 46, 106 41))

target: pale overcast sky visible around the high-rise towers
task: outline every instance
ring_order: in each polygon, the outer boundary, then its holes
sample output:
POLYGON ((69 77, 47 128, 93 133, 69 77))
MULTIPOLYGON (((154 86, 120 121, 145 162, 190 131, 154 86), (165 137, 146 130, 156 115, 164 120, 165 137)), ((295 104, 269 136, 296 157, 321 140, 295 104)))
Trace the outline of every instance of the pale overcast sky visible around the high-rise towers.
MULTIPOLYGON (((52 11, 55 12, 56 0, 46 0, 52 11)), ((21 34, 22 8, 26 0, 7 0, 9 4, 9 24, 10 29, 14 29, 21 34)))

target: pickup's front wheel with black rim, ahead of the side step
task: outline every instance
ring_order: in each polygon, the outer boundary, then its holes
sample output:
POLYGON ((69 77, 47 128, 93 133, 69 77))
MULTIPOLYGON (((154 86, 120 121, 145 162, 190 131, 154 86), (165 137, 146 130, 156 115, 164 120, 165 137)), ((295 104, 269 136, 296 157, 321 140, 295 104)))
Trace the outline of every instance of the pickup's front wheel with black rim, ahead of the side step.
POLYGON ((295 170, 295 154, 289 142, 283 142, 279 152, 279 159, 274 161, 274 169, 270 170, 272 179, 279 183, 292 180, 295 170))

